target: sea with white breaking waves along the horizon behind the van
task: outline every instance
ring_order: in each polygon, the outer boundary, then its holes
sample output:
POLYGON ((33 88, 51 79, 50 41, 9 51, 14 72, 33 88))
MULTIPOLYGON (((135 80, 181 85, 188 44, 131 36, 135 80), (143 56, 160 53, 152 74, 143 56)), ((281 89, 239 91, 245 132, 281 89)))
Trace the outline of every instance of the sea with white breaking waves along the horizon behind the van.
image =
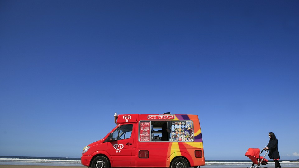
MULTIPOLYGON (((298 167, 299 160, 280 160, 281 166, 298 167)), ((24 157, 24 156, 0 156, 0 165, 40 165, 40 166, 83 166, 80 158, 68 157, 24 157)), ((202 168, 220 168, 220 167, 250 167, 251 160, 206 160, 205 166, 202 168)), ((274 162, 269 161, 263 167, 274 167, 274 162)))

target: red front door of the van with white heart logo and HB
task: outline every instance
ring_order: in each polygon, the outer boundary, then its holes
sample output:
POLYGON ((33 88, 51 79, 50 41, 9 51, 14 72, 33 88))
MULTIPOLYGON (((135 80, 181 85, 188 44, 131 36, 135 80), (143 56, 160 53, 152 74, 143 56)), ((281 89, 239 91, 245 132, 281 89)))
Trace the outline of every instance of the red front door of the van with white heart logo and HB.
POLYGON ((112 133, 107 152, 112 158, 113 167, 127 167, 131 164, 134 133, 133 124, 120 125, 112 133))

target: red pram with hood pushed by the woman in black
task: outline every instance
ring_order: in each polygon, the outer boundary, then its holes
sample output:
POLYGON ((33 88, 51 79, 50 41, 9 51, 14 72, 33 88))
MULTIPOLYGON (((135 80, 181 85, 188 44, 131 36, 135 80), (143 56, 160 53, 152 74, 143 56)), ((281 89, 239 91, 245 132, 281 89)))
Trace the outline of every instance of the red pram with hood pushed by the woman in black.
POLYGON ((265 155, 262 157, 260 155, 263 151, 264 150, 259 152, 259 149, 257 149, 257 148, 249 148, 247 150, 247 152, 245 153, 245 156, 249 157, 249 159, 252 161, 252 166, 250 168, 255 168, 254 165, 257 165, 257 168, 258 168, 261 165, 267 165, 268 164, 268 160, 265 159, 265 156, 268 153, 268 150, 265 153, 265 155))

